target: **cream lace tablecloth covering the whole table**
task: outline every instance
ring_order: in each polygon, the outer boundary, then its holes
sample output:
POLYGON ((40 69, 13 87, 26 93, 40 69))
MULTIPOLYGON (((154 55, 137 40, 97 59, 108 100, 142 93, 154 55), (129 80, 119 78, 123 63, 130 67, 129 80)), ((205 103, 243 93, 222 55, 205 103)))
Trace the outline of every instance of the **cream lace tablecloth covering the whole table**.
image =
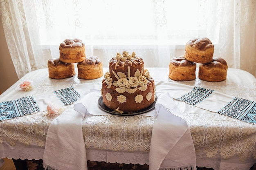
MULTIPOLYGON (((229 68, 222 82, 176 82, 168 78, 168 68, 148 68, 155 82, 175 82, 210 88, 224 94, 256 101, 256 78, 246 71, 229 68)), ((108 68, 104 68, 104 73, 108 68)), ((76 72, 77 73, 77 72, 76 72)), ((101 88, 101 80, 50 79, 48 69, 28 73, 0 95, 0 102, 92 83, 101 88), (25 92, 18 86, 24 80, 33 82, 34 90, 25 92)), ((157 88, 157 93, 161 89, 157 88)), ((191 129, 197 166, 214 170, 249 170, 256 163, 256 126, 218 113, 175 103, 191 129)), ((47 130, 55 117, 36 113, 0 122, 0 158, 42 159, 47 130)), ((87 159, 117 163, 148 164, 151 132, 155 117, 87 115, 83 120, 83 136, 87 159)))

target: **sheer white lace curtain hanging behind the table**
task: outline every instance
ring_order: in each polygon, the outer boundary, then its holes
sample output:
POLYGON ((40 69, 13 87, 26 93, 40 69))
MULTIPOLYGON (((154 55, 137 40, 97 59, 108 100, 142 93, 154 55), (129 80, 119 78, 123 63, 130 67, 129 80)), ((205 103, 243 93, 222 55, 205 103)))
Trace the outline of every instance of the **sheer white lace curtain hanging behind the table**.
POLYGON ((208 37, 214 57, 256 76, 255 0, 0 0, 8 48, 18 77, 47 68, 67 38, 85 42, 103 66, 117 52, 168 67, 186 42, 208 37))

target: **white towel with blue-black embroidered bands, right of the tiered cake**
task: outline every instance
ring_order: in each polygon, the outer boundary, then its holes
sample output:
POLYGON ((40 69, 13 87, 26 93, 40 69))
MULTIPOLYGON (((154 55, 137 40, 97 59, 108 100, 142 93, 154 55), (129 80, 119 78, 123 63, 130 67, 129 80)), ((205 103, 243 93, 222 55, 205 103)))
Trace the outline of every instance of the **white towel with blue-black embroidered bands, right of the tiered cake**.
POLYGON ((171 82, 159 82, 161 92, 187 104, 256 124, 256 102, 207 89, 171 82))

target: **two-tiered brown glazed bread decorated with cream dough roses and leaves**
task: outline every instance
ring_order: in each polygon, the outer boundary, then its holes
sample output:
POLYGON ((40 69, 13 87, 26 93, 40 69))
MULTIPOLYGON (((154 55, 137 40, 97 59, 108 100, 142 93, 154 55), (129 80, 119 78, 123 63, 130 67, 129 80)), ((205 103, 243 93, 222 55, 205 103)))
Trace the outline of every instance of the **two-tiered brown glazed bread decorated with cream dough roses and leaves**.
POLYGON ((110 60, 101 90, 103 103, 119 113, 138 112, 155 101, 155 82, 134 52, 117 53, 110 60))

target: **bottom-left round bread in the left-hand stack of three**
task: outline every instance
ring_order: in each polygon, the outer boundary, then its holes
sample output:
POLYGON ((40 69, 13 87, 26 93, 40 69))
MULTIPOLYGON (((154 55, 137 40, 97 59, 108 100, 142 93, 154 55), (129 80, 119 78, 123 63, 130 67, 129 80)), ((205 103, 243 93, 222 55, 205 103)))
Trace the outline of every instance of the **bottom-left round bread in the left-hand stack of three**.
POLYGON ((49 77, 52 79, 65 79, 76 75, 74 64, 64 63, 59 59, 49 59, 47 65, 49 77))

